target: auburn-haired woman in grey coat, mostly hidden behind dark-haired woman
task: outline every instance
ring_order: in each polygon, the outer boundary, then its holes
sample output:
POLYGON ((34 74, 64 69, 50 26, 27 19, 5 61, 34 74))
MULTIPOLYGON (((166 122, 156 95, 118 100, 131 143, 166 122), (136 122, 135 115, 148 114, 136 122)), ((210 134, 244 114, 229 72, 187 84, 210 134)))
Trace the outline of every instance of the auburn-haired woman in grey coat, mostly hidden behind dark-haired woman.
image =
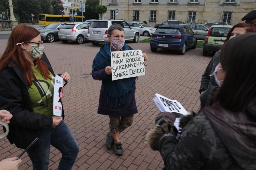
MULTIPOLYGON (((245 34, 248 32, 256 32, 256 28, 244 23, 236 24, 228 32, 227 39, 224 43, 237 35, 245 34)), ((215 53, 208 66, 206 67, 204 74, 202 75, 201 86, 199 89, 201 110, 205 106, 211 106, 214 103, 214 100, 212 99, 212 94, 219 87, 219 85, 216 84, 214 77, 210 75, 213 74, 215 67, 219 63, 220 53, 221 51, 215 53)))

